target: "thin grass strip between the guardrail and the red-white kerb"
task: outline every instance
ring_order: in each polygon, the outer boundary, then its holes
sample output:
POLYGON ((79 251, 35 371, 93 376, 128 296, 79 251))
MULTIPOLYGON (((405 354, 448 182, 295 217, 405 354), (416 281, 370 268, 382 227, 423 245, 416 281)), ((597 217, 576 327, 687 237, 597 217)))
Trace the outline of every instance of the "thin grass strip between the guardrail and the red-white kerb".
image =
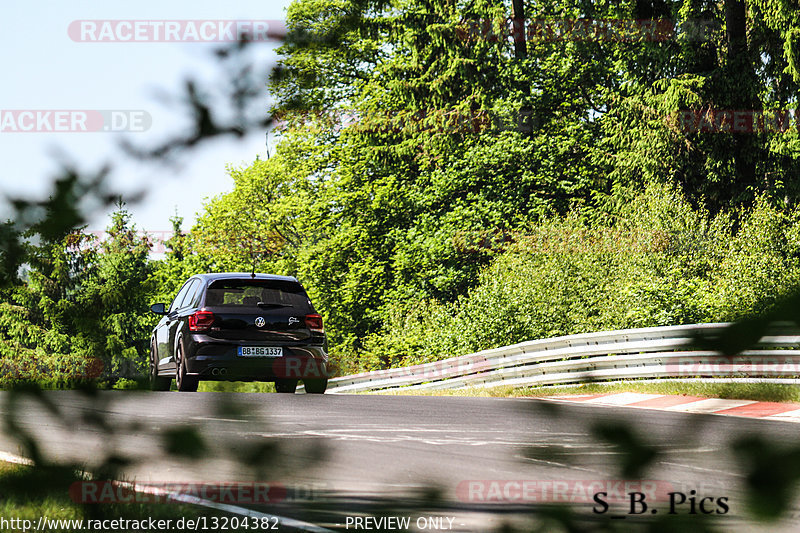
POLYGON ((643 392, 651 394, 675 394, 724 398, 730 400, 756 400, 762 402, 800 403, 800 387, 776 383, 698 383, 668 381, 661 382, 615 382, 587 383, 573 387, 471 387, 459 390, 421 391, 397 389, 380 391, 381 394, 412 396, 482 396, 482 397, 541 397, 564 394, 595 394, 614 392, 643 392))

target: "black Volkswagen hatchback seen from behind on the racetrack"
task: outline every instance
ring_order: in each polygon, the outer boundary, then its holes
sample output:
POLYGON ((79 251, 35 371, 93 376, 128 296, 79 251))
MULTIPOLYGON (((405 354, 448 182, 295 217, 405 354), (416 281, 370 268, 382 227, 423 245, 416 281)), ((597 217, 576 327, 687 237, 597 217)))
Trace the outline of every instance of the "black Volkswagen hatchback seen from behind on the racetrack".
POLYGON ((322 317, 293 277, 198 274, 184 283, 153 330, 154 390, 196 391, 201 380, 274 381, 278 392, 322 394, 328 385, 322 317))

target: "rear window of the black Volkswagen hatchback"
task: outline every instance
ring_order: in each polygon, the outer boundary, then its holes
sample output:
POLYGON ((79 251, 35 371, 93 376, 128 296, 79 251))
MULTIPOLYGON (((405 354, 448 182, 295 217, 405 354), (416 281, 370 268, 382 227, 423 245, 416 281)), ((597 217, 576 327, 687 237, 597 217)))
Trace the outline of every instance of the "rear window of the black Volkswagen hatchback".
POLYGON ((303 287, 292 281, 225 279, 211 282, 206 290, 208 307, 292 308, 311 313, 311 302, 303 287))

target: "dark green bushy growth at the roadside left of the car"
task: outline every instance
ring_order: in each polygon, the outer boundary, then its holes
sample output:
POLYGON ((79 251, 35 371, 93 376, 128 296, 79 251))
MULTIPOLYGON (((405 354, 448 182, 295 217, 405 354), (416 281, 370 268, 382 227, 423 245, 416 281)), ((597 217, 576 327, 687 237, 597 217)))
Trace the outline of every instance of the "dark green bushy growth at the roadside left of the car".
POLYGON ((141 376, 153 326, 150 246, 122 204, 102 242, 80 229, 49 240, 31 231, 25 279, 0 301, 0 384, 141 376))

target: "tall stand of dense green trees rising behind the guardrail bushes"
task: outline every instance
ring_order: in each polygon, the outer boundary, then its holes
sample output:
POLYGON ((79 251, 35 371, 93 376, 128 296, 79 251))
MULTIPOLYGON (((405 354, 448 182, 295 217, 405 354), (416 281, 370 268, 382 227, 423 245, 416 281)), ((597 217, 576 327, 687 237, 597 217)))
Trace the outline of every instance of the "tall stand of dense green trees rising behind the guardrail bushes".
POLYGON ((784 4, 528 3, 523 51, 508 3, 298 0, 271 80, 277 155, 232 171, 190 238, 215 269, 301 278, 345 359, 398 306, 456 302, 554 215, 613 226, 652 183, 711 214, 794 202, 796 131, 685 123, 793 105, 784 4), (546 21, 595 33, 548 37, 546 21))

